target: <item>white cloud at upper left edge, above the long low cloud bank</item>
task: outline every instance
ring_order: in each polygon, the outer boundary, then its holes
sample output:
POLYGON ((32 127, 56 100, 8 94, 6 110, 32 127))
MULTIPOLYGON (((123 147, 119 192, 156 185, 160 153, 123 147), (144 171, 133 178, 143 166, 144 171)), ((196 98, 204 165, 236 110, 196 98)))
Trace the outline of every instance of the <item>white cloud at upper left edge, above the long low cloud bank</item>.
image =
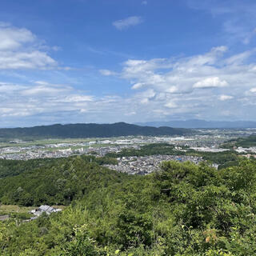
POLYGON ((0 70, 47 69, 58 63, 38 49, 38 38, 26 28, 0 23, 0 70))

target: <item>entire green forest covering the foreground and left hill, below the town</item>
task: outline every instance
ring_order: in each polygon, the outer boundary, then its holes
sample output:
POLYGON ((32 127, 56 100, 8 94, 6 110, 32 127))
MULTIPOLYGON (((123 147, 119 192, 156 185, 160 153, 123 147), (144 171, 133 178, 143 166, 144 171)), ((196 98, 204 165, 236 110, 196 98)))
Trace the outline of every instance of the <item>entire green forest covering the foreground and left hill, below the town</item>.
POLYGON ((112 161, 2 160, 2 203, 67 207, 31 222, 0 222, 1 255, 256 254, 256 162, 221 170, 163 162, 139 176, 102 166, 112 161))

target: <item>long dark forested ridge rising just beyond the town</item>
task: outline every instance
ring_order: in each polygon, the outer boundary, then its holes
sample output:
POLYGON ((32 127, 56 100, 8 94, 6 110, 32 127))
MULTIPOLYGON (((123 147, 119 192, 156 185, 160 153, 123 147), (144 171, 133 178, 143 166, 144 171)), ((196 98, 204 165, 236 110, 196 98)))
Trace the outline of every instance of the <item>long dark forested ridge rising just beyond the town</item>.
POLYGON ((125 122, 114 124, 56 124, 27 128, 0 129, 0 138, 103 138, 129 135, 182 135, 191 130, 171 127, 136 126, 125 122))

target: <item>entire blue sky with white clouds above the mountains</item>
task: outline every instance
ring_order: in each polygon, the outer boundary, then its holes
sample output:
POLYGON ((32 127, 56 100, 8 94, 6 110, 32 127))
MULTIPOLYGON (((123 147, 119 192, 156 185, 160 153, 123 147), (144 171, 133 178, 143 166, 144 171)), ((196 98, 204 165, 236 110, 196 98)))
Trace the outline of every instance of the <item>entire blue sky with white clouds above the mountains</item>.
POLYGON ((256 121, 255 0, 1 0, 0 126, 256 121))

